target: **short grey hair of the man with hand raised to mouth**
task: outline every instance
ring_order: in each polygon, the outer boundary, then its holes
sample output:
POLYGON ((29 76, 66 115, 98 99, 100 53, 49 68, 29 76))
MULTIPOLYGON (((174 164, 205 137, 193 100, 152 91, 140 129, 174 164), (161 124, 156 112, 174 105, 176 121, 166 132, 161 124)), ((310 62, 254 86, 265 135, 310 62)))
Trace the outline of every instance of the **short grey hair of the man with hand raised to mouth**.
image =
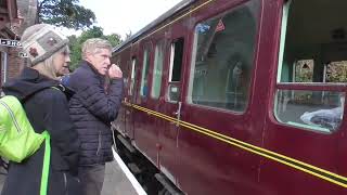
POLYGON ((112 46, 107 40, 100 38, 88 39, 82 44, 82 60, 87 58, 87 53, 95 54, 100 49, 112 51, 112 46))

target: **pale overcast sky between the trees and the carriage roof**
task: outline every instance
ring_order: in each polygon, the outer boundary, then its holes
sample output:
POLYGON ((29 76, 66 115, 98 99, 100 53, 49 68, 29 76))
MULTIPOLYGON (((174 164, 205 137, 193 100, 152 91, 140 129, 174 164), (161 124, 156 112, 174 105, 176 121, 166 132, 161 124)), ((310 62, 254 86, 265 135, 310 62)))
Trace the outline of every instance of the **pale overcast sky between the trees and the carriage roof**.
POLYGON ((181 0, 79 0, 92 10, 97 25, 105 35, 119 34, 123 38, 130 30, 133 34, 150 24, 181 0))

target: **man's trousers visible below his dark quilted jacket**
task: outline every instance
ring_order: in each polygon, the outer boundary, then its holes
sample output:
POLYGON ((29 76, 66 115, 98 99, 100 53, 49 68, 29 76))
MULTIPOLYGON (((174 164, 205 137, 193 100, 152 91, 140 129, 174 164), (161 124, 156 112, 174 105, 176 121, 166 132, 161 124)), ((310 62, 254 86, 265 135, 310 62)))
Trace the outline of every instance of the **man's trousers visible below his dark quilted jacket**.
POLYGON ((82 187, 82 195, 101 195, 105 178, 105 165, 79 167, 78 178, 82 187))

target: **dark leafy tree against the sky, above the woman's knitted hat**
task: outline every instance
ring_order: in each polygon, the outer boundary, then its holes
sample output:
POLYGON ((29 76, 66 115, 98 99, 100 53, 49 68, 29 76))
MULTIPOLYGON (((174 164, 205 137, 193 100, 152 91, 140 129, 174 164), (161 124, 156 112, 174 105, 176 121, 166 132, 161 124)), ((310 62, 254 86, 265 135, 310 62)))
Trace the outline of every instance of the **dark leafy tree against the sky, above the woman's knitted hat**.
POLYGON ((37 22, 86 29, 95 22, 95 14, 78 3, 79 0, 38 0, 37 22))

